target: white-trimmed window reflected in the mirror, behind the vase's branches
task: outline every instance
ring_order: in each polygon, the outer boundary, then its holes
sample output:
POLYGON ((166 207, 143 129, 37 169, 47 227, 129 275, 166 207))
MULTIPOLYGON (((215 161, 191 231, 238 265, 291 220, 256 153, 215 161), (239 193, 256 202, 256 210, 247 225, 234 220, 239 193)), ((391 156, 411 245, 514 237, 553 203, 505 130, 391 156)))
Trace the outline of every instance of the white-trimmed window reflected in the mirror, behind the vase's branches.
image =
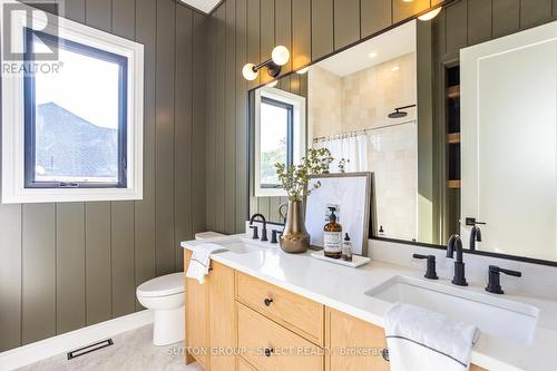
POLYGON ((274 88, 255 92, 255 196, 284 196, 275 164, 297 164, 305 148, 305 98, 274 88))

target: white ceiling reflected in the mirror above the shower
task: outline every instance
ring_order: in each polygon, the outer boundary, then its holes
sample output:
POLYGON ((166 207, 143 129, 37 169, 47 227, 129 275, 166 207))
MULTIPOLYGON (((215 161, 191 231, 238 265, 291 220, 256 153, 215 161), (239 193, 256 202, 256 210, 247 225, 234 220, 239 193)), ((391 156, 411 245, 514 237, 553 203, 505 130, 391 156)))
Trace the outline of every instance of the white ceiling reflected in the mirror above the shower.
POLYGON ((416 20, 377 36, 314 65, 344 77, 416 51, 416 20), (370 53, 375 53, 370 58, 370 53))

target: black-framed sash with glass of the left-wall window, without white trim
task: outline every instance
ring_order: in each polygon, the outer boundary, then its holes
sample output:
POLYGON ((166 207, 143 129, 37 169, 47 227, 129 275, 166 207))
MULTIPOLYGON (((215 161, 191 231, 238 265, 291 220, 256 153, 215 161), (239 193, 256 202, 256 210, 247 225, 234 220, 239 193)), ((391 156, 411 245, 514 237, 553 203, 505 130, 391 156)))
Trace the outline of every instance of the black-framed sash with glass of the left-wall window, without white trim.
POLYGON ((27 29, 26 64, 42 43, 63 68, 25 76, 26 188, 125 188, 127 59, 27 29))

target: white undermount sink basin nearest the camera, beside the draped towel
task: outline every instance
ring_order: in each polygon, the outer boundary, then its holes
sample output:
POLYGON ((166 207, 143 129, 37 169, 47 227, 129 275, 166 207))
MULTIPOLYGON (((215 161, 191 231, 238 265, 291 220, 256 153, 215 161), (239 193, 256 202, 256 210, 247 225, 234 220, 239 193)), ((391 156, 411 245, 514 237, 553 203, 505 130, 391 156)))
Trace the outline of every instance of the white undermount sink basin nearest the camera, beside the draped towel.
POLYGON ((395 276, 365 295, 442 313, 519 344, 531 344, 539 315, 539 310, 531 305, 403 276, 395 276))

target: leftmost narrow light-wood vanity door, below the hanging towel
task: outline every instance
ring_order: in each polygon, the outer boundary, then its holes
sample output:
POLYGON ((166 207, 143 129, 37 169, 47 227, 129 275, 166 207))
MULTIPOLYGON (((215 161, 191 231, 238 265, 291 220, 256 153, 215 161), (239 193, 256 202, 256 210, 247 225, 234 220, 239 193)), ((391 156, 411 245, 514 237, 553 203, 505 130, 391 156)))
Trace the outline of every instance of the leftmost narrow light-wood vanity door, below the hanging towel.
MULTIPOLYGON (((184 250, 184 266, 187 267, 192 252, 184 250)), ((196 280, 186 279, 186 346, 189 349, 186 363, 189 363, 193 357, 205 370, 209 370, 207 289, 209 281, 207 277, 205 284, 201 285, 196 280)))

